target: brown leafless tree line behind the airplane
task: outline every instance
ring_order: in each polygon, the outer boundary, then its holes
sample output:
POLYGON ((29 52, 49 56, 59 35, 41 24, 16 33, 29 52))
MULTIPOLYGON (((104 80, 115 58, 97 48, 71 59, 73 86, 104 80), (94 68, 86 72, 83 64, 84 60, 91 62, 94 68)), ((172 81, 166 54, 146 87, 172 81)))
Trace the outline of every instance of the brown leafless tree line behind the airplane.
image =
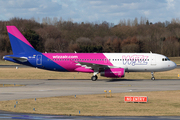
POLYGON ((0 21, 0 55, 12 54, 6 26, 15 25, 40 52, 159 53, 180 55, 180 20, 151 23, 146 18, 120 20, 118 25, 62 18, 12 18, 0 21))

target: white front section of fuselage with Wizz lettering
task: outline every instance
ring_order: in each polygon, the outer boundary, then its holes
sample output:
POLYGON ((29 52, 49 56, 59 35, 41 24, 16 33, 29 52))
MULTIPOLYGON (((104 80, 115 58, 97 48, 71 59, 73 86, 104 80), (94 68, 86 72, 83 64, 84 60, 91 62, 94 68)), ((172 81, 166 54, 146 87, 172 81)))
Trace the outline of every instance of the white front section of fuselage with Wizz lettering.
POLYGON ((176 64, 161 54, 155 53, 104 53, 116 68, 124 68, 126 72, 160 72, 172 70, 176 64))

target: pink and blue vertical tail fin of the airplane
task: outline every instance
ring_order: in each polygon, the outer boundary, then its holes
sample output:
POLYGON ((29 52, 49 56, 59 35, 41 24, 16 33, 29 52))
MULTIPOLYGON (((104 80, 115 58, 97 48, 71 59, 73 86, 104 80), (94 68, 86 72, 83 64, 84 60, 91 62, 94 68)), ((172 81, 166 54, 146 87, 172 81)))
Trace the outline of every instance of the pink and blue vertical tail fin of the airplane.
POLYGON ((6 26, 14 55, 37 52, 15 26, 6 26))

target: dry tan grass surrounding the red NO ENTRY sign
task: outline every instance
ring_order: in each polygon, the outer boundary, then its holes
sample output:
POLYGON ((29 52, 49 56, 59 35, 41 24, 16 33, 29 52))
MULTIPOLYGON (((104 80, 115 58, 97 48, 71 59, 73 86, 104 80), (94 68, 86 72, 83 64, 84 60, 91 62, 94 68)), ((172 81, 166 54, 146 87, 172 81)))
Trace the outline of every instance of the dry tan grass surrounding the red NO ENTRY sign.
POLYGON ((1 101, 5 111, 83 116, 179 116, 180 91, 115 93, 1 101), (124 103, 124 96, 148 96, 148 103, 124 103), (36 111, 33 111, 35 108, 36 111), (80 110, 80 114, 79 114, 80 110))

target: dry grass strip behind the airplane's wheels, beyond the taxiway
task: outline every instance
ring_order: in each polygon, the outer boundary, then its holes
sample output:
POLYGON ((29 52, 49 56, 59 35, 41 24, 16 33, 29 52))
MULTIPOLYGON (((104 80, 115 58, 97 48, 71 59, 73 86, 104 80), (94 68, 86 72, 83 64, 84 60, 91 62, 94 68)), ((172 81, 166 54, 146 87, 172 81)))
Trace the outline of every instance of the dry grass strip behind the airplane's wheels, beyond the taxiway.
MULTIPOLYGON (((156 79, 178 79, 180 69, 156 72, 156 79)), ((98 74, 99 75, 99 74, 98 74)), ((90 79, 92 73, 54 72, 36 68, 0 68, 0 79, 90 79)), ((130 72, 120 79, 150 79, 150 72, 130 72)), ((98 76, 98 79, 112 79, 98 76)))

